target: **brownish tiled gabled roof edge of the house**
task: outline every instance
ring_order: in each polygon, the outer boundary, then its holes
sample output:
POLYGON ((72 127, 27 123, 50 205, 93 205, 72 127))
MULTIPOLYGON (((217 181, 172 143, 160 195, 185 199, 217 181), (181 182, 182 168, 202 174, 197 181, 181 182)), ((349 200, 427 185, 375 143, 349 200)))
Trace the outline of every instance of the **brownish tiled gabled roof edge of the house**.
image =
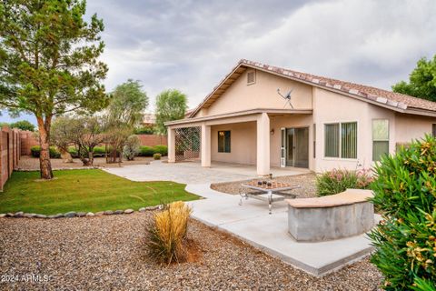
POLYGON ((410 95, 394 93, 369 85, 360 85, 324 76, 301 73, 273 65, 264 65, 258 62, 242 59, 235 67, 233 67, 233 70, 223 78, 220 84, 213 88, 213 92, 207 95, 203 102, 193 110, 190 117, 193 117, 201 108, 207 108, 212 105, 213 102, 222 95, 247 68, 261 70, 274 75, 281 75, 297 82, 321 87, 325 90, 333 91, 342 95, 356 97, 371 102, 372 104, 382 105, 383 107, 388 107, 396 111, 423 111, 423 113, 430 112, 430 115, 436 115, 436 102, 412 97, 410 95))

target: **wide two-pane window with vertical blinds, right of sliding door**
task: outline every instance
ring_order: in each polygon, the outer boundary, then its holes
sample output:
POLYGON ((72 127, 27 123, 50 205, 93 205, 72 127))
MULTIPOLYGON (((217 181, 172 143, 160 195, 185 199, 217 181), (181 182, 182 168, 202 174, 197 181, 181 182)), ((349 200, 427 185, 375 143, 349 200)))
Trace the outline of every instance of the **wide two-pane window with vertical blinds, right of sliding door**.
POLYGON ((357 158, 357 122, 324 125, 324 156, 357 158))

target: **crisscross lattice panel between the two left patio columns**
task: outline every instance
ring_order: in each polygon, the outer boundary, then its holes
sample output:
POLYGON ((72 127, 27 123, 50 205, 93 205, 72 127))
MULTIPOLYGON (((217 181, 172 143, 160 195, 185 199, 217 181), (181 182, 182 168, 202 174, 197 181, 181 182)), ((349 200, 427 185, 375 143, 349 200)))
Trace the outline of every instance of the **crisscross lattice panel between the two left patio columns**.
POLYGON ((201 128, 175 129, 175 161, 193 160, 200 157, 201 128))

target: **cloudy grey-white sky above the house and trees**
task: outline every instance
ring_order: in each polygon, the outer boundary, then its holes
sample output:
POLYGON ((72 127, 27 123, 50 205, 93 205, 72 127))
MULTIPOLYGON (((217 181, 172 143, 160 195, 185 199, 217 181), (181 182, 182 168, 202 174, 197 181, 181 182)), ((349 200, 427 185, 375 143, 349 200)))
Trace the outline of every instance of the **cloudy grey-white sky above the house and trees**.
POLYGON ((434 0, 87 0, 94 13, 106 90, 140 80, 148 111, 168 88, 195 107, 242 58, 390 89, 436 54, 434 0))

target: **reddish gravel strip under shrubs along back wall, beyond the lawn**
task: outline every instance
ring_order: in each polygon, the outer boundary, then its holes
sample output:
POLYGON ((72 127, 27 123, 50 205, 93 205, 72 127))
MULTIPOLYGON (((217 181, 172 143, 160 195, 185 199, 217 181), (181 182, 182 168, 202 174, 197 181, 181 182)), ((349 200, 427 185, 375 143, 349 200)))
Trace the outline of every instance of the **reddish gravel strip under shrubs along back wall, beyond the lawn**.
MULTIPOLYGON (((166 157, 165 157, 166 158, 166 157)), ((78 158, 74 158, 74 163, 64 163, 62 158, 52 158, 50 159, 52 162, 53 169, 65 169, 65 168, 80 168, 84 165, 78 158)), ((136 156, 134 161, 124 160, 123 163, 118 164, 106 164, 106 159, 104 157, 95 157, 94 158, 94 166, 100 167, 120 167, 120 166, 129 166, 129 165, 147 165, 153 161, 153 157, 147 156, 136 156)), ((33 156, 22 156, 20 161, 18 162, 18 169, 21 170, 39 170, 39 159, 33 156)))

